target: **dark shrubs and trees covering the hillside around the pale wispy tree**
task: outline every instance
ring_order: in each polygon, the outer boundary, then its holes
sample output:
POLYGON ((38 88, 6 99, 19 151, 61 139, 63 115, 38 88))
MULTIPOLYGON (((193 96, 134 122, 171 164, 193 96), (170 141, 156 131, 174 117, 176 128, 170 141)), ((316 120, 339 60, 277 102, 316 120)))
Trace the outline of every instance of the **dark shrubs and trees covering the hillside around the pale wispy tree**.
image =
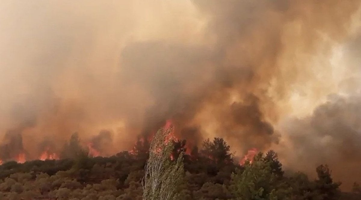
MULTIPOLYGON (((78 146, 77 141, 74 136, 70 143, 78 146)), ((186 141, 172 142, 169 160, 176 162, 187 151, 186 141)), ((361 199, 360 185, 355 182, 352 192, 341 192, 327 165, 315 169, 316 179, 285 172, 273 150, 257 153, 243 165, 222 138, 205 140, 187 152, 178 199, 361 199)), ((78 149, 69 159, 6 162, 0 165, 0 199, 140 200, 148 155, 149 144, 138 141, 132 151, 110 157, 91 158, 78 149)))

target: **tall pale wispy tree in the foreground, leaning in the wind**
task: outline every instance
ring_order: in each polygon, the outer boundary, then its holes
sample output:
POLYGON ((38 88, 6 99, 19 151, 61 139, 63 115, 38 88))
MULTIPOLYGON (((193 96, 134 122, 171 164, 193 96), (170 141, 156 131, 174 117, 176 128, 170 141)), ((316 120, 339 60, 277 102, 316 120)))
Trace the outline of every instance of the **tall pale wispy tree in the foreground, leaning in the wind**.
POLYGON ((154 136, 149 149, 149 159, 145 165, 142 181, 143 200, 170 200, 179 195, 177 187, 183 180, 183 154, 174 162, 170 160, 174 149, 170 141, 173 127, 162 128, 154 136))

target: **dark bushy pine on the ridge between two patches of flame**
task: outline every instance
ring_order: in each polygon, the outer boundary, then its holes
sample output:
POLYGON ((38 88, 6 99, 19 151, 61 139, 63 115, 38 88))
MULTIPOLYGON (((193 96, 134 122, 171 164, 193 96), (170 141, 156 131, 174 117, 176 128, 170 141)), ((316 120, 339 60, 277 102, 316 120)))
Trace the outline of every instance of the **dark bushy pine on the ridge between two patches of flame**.
POLYGON ((215 137, 211 142, 209 139, 203 142, 201 154, 216 164, 229 164, 232 163, 232 154, 230 153, 230 146, 223 138, 215 137))

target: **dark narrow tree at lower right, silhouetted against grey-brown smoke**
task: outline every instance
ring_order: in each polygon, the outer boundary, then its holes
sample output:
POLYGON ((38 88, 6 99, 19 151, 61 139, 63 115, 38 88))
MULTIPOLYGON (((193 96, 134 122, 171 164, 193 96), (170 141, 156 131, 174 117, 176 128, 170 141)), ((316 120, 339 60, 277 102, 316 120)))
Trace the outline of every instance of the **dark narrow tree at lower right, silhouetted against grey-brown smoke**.
POLYGON ((339 199, 341 183, 334 183, 331 178, 331 171, 327 165, 319 165, 316 168, 318 180, 316 188, 322 195, 323 200, 339 199))

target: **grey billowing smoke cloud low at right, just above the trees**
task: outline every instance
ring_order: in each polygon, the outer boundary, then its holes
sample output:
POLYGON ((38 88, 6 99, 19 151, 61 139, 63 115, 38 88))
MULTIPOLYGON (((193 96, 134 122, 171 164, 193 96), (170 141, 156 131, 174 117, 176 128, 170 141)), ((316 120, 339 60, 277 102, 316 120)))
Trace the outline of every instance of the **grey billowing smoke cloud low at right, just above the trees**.
POLYGON ((284 123, 284 146, 280 156, 289 169, 314 175, 317 165, 327 163, 343 188, 360 180, 361 94, 334 95, 312 115, 284 123))

